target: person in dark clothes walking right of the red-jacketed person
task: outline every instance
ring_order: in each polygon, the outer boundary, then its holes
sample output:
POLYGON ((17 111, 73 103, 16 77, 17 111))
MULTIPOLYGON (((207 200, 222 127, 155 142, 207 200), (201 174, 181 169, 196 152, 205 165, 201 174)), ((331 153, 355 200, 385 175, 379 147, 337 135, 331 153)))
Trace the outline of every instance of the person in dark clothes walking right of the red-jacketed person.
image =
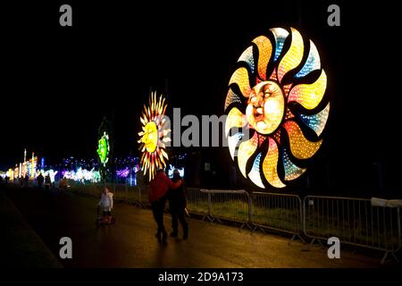
MULTIPOLYGON (((173 171, 173 182, 182 181, 178 169, 173 171)), ((177 189, 170 189, 168 192, 169 208, 172 214, 172 233, 171 237, 177 237, 179 234, 179 221, 183 229, 183 240, 188 238, 188 223, 186 222, 186 186, 184 181, 177 189)))

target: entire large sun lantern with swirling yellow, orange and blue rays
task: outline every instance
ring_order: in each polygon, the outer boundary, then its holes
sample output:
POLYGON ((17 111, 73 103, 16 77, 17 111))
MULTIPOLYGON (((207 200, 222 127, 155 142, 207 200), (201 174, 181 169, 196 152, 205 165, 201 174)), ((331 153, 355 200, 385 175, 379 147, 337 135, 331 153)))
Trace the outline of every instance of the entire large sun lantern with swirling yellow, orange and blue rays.
POLYGON ((322 145, 330 103, 320 55, 297 29, 271 29, 239 57, 225 101, 230 156, 260 188, 286 187, 322 145), (250 131, 250 139, 245 132, 250 131))

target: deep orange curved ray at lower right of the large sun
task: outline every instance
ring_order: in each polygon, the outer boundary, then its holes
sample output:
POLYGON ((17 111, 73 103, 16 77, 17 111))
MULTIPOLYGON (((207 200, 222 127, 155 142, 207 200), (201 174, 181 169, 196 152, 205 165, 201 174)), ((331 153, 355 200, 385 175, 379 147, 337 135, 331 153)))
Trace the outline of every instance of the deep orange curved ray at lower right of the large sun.
POLYGON ((322 140, 311 142, 306 139, 303 131, 297 125, 297 122, 288 121, 283 124, 288 131, 290 152, 297 159, 308 159, 314 156, 315 152, 321 147, 322 140))

